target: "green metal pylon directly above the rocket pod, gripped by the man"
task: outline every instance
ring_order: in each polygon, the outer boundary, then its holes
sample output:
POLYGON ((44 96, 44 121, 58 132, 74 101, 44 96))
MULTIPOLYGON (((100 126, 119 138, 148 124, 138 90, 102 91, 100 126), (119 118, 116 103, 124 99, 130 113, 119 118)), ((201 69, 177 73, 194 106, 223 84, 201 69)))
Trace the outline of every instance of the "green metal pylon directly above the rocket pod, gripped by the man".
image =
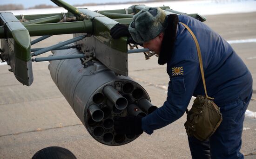
MULTIPOLYGON (((113 39, 109 34, 110 29, 118 22, 88 9, 79 11, 93 23, 93 36, 76 43, 81 46, 82 52, 87 54, 87 50, 93 51, 95 57, 110 70, 128 76, 127 38, 113 39)), ((75 37, 80 35, 74 34, 75 37)))

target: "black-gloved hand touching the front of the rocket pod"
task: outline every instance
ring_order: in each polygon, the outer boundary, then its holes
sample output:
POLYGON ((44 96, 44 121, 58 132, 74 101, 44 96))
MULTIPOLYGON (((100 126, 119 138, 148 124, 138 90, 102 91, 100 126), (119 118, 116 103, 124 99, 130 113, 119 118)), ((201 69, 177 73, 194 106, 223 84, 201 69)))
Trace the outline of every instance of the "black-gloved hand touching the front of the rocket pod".
POLYGON ((141 116, 114 117, 114 129, 117 134, 142 134, 141 116))

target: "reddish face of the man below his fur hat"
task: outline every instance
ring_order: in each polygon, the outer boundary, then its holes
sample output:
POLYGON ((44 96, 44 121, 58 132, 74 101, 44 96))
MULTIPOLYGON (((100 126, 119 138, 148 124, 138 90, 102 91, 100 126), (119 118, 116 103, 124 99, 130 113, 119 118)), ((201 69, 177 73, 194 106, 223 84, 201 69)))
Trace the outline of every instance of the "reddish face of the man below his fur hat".
POLYGON ((143 43, 144 48, 148 48, 150 51, 155 51, 156 54, 160 54, 162 46, 163 33, 161 32, 157 37, 152 40, 143 43))

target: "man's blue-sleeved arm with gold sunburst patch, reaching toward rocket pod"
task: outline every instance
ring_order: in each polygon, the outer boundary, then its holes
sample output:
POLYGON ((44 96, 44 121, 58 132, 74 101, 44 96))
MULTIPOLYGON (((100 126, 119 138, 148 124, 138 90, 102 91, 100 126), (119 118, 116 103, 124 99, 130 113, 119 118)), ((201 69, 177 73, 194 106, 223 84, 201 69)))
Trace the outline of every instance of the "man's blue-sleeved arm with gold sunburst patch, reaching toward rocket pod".
POLYGON ((185 59, 172 65, 168 73, 170 81, 167 100, 162 107, 142 118, 142 130, 147 134, 176 121, 185 113, 201 78, 199 63, 194 59, 185 59))

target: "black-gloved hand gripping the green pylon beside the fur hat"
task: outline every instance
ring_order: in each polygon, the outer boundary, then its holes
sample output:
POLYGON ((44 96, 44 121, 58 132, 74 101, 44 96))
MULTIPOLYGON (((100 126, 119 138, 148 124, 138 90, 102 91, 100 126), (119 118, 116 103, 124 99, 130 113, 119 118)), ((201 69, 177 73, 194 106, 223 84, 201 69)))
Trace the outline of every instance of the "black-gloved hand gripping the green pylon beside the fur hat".
POLYGON ((112 38, 131 37, 128 26, 120 23, 110 29, 110 35, 112 38))

